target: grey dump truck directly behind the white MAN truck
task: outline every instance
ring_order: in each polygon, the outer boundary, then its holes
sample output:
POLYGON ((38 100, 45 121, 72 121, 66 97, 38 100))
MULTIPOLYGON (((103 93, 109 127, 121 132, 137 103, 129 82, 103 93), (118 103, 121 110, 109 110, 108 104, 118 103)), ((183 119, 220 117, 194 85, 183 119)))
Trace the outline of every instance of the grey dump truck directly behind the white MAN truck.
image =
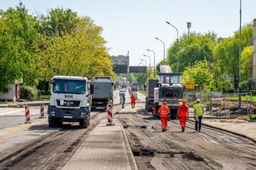
POLYGON ((103 107, 106 109, 108 102, 113 101, 114 82, 109 76, 94 77, 92 80, 94 85, 94 94, 92 95, 91 109, 103 107))

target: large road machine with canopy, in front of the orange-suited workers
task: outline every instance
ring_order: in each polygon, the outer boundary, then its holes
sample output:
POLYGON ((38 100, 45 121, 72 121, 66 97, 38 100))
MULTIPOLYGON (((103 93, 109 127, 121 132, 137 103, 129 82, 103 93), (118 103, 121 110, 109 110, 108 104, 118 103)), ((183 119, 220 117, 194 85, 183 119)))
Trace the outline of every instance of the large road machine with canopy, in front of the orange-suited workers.
POLYGON ((175 119, 178 105, 182 104, 182 73, 171 73, 169 65, 159 65, 158 78, 158 87, 154 88, 153 114, 158 116, 158 109, 162 106, 163 101, 166 101, 170 108, 170 119, 175 119))

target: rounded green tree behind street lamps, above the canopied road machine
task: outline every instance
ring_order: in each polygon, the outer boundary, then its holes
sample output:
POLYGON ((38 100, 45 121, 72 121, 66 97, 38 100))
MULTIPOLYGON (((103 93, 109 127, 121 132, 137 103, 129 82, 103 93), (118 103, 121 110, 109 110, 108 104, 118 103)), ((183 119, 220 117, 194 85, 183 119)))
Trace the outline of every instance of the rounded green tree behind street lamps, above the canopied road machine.
POLYGON ((167 52, 167 61, 174 72, 182 72, 189 65, 194 65, 196 61, 213 61, 213 49, 216 45, 216 34, 192 33, 188 37, 183 34, 179 42, 174 42, 167 52))

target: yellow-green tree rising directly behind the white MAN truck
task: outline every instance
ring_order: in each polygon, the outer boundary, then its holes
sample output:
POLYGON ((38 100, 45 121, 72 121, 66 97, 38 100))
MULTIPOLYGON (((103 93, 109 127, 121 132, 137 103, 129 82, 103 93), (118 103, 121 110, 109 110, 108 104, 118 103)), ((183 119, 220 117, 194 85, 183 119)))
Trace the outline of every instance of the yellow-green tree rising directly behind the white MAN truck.
POLYGON ((102 27, 95 26, 86 17, 79 18, 78 26, 72 34, 43 39, 44 48, 38 53, 38 58, 42 61, 38 65, 41 68, 41 79, 46 81, 54 75, 114 77, 106 41, 101 33, 102 27))

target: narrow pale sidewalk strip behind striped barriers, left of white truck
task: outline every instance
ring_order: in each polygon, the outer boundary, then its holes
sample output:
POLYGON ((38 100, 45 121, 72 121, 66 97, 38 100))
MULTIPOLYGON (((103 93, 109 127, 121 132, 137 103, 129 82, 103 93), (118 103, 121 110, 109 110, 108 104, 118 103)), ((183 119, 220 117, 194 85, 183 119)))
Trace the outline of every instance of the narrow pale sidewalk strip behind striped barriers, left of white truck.
POLYGON ((26 102, 10 102, 10 103, 2 103, 0 102, 0 108, 24 108, 25 105, 40 105, 49 104, 50 101, 26 101, 26 102))

